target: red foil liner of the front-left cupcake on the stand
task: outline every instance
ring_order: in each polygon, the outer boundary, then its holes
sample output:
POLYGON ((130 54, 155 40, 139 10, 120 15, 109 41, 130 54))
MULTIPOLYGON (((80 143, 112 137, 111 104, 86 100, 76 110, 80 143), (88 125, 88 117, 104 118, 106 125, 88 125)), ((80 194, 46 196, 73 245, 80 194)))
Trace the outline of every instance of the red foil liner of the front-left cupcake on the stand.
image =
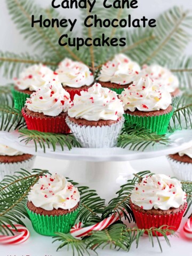
POLYGON ((66 124, 66 115, 56 117, 32 117, 26 114, 24 108, 21 113, 25 118, 27 129, 36 130, 39 132, 51 132, 51 133, 69 133, 70 129, 66 124))

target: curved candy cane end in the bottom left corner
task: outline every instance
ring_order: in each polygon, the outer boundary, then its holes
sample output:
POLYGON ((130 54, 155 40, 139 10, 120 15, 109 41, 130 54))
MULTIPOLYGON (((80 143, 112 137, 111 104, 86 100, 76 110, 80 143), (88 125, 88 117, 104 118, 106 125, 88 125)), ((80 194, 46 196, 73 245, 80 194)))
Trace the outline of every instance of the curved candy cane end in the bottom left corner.
POLYGON ((11 225, 3 226, 12 230, 15 236, 0 235, 0 244, 4 244, 4 245, 5 244, 21 244, 27 241, 27 239, 30 236, 29 230, 26 227, 23 227, 21 225, 14 225, 14 226, 17 228, 17 230, 12 228, 11 225))

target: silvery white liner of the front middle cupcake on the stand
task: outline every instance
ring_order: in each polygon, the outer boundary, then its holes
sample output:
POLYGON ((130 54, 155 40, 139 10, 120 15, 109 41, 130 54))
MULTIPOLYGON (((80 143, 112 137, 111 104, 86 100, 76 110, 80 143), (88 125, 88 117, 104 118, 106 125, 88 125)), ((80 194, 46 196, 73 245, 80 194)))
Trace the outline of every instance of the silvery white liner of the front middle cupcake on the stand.
POLYGON ((66 118, 66 123, 75 138, 81 143, 84 148, 112 148, 117 144, 117 138, 124 124, 124 118, 121 121, 100 126, 78 125, 66 118))

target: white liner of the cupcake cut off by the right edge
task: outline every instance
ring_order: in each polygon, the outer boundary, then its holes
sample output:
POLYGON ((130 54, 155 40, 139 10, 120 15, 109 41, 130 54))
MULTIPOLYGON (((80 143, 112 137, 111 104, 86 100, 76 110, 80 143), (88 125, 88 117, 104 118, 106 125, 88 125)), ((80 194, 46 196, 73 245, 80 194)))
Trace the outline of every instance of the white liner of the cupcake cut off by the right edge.
POLYGON ((176 161, 173 158, 167 156, 167 159, 172 167, 175 177, 179 180, 192 181, 192 164, 176 161))

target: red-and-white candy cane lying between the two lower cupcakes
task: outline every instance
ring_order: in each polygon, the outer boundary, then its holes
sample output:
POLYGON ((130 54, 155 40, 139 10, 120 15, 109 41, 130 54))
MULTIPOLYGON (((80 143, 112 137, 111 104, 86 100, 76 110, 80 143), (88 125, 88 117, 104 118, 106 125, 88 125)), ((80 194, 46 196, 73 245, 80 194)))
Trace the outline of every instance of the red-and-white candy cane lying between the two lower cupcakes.
MULTIPOLYGON (((120 213, 120 216, 121 217, 124 216, 123 212, 120 213)), ((71 228, 70 234, 73 235, 74 237, 87 236, 93 230, 98 231, 98 230, 103 230, 109 227, 111 224, 119 220, 120 216, 118 213, 115 213, 95 225, 84 227, 84 228, 83 228, 83 223, 79 222, 73 228, 71 228)))

